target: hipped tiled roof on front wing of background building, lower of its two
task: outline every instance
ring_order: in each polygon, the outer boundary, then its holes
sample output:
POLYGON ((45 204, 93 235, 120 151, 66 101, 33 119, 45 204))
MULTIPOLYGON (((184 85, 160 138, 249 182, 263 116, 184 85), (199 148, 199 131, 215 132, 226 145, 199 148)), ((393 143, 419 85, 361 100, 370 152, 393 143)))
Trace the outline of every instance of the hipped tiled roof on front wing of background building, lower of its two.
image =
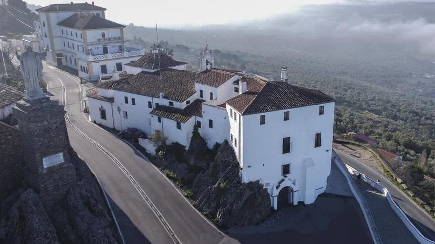
POLYGON ((91 13, 75 13, 57 24, 78 30, 125 27, 91 13))

